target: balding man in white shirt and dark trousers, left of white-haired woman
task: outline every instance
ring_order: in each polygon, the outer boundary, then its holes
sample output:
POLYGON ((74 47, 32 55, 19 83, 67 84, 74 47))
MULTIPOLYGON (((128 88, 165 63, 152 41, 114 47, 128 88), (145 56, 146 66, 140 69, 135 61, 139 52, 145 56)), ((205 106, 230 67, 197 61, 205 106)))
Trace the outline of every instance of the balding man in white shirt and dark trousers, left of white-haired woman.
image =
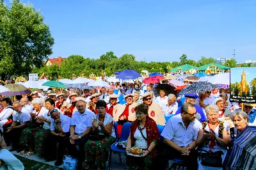
POLYGON ((10 151, 19 150, 22 148, 19 145, 20 135, 24 128, 26 128, 28 121, 30 120, 30 111, 21 106, 20 102, 13 102, 12 126, 8 128, 7 132, 4 134, 4 138, 10 139, 12 141, 12 149, 10 151))

